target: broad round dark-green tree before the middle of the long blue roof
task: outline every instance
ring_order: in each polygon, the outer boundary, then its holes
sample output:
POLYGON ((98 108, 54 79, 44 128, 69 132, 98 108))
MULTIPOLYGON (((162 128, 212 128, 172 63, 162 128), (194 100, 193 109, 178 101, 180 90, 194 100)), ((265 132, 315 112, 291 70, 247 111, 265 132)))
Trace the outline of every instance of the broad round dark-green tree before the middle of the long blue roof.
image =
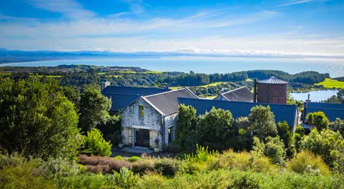
POLYGON ((209 142, 223 148, 226 139, 235 133, 234 118, 229 110, 212 108, 199 117, 196 127, 202 142, 209 142))

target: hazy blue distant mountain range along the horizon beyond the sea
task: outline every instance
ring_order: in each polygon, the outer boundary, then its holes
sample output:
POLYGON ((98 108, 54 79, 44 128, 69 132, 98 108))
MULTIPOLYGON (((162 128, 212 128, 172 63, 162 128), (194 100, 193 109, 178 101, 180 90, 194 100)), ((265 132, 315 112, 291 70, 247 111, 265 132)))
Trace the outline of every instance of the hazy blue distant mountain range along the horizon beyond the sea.
POLYGON ((265 53, 255 51, 205 51, 200 49, 179 49, 171 51, 19 51, 0 48, 0 64, 14 62, 32 62, 66 59, 91 58, 160 58, 171 56, 204 56, 204 57, 265 57, 265 58, 344 58, 341 55, 310 55, 288 53, 265 53))

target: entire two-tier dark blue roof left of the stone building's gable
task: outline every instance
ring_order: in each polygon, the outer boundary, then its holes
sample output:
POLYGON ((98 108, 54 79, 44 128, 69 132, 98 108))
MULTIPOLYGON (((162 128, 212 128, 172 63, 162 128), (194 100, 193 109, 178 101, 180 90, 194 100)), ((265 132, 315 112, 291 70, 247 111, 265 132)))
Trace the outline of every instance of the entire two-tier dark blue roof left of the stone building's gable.
POLYGON ((152 95, 152 94, 162 93, 166 91, 171 91, 171 89, 128 87, 128 86, 107 86, 104 90, 102 90, 102 94, 108 98, 111 97, 111 100, 112 100, 111 111, 119 111, 129 106, 132 102, 134 102, 140 96, 152 95))

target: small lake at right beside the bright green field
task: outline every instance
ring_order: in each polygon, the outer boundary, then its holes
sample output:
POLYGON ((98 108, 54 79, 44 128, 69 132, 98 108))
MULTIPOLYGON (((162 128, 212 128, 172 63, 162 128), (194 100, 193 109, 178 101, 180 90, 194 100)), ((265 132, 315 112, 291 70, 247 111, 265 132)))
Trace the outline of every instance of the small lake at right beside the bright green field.
POLYGON ((312 102, 319 102, 326 100, 333 95, 337 95, 337 92, 338 90, 318 90, 304 93, 290 93, 290 96, 295 100, 305 101, 308 98, 308 94, 310 94, 310 100, 312 100, 312 102))

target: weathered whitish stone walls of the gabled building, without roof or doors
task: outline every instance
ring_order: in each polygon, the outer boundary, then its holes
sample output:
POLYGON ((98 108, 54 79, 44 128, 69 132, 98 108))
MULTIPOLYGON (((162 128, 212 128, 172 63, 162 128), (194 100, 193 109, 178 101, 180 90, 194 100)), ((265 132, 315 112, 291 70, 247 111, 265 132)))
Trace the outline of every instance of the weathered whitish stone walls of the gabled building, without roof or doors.
MULTIPOLYGON (((123 109, 121 116, 122 126, 122 142, 125 140, 124 128, 130 128, 132 132, 132 146, 135 146, 135 129, 147 129, 149 131, 157 132, 159 139, 159 148, 162 150, 163 144, 168 144, 168 129, 176 124, 178 116, 177 113, 171 115, 163 115, 158 110, 153 108, 143 97, 138 98, 127 108, 123 109), (143 106, 143 117, 140 117, 140 106, 143 106)), ((172 128, 172 139, 174 131, 172 128)), ((151 135, 151 133, 150 133, 151 135)), ((155 138, 150 138, 150 147, 155 138)), ((153 142, 154 143, 154 142, 153 142)))

